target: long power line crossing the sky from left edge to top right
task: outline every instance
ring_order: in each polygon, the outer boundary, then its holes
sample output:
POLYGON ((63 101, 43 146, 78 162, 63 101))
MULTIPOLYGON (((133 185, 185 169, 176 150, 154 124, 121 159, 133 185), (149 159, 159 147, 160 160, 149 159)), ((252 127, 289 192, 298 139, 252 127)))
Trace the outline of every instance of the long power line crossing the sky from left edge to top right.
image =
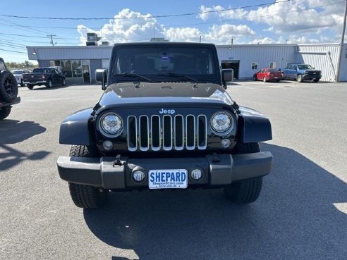
POLYGON ((171 15, 162 15, 162 16, 144 16, 144 17, 112 17, 112 18, 68 18, 68 17, 34 17, 34 16, 12 16, 12 15, 0 15, 2 17, 9 17, 9 18, 25 18, 25 19, 44 19, 44 20, 124 20, 124 19, 147 19, 147 18, 168 18, 168 17, 178 17, 178 16, 195 16, 199 14, 204 13, 219 13, 224 11, 231 11, 231 10, 237 10, 237 9, 245 9, 245 8, 253 8, 253 7, 260 7, 260 6, 269 6, 271 4, 280 4, 284 2, 288 2, 291 0, 282 0, 282 1, 276 1, 276 2, 269 2, 265 4, 255 4, 251 6, 242 6, 242 7, 233 7, 233 8, 226 8, 222 10, 211 10, 211 11, 202 11, 202 12, 195 12, 195 13, 179 13, 179 14, 171 14, 171 15))

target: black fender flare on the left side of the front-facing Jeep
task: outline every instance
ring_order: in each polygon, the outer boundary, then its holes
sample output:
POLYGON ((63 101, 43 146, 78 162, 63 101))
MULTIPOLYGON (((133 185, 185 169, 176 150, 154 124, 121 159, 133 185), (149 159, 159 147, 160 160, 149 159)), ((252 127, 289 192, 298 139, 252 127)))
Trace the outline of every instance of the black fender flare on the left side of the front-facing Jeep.
POLYGON ((65 118, 60 125, 59 143, 90 145, 92 112, 92 108, 84 109, 65 118))

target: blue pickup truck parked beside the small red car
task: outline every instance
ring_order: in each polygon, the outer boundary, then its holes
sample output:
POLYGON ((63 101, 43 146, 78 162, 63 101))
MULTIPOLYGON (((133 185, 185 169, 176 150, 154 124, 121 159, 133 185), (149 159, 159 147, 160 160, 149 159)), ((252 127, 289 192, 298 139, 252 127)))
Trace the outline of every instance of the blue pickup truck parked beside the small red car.
POLYGON ((318 82, 322 78, 322 71, 315 70, 309 64, 291 64, 282 70, 282 75, 284 80, 296 80, 298 82, 313 80, 318 82))

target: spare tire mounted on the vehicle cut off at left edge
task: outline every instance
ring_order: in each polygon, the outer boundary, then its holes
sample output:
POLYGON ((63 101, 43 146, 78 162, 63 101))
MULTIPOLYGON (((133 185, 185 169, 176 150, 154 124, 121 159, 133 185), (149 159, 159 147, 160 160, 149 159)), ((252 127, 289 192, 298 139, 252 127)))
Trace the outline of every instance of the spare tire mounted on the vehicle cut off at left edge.
POLYGON ((12 102, 18 95, 16 78, 8 70, 0 75, 0 101, 12 102))

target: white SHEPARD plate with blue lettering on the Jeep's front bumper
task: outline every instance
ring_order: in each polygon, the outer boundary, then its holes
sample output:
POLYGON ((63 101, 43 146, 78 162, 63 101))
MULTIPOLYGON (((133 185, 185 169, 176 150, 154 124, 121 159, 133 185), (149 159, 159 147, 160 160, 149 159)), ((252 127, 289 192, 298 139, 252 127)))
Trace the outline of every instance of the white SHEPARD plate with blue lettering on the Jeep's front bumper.
POLYGON ((150 170, 148 173, 150 189, 185 189, 187 186, 187 170, 150 170))

